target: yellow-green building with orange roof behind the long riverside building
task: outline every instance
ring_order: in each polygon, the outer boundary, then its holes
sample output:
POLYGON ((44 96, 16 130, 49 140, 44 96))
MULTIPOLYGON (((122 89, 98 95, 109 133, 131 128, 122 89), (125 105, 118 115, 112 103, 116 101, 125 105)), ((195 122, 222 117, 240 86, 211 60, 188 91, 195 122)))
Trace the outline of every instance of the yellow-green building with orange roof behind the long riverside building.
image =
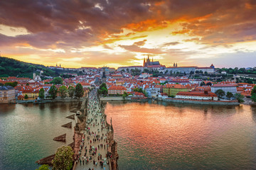
POLYGON ((180 91, 191 91, 191 86, 189 85, 181 85, 181 84, 166 84, 163 87, 163 93, 168 96, 176 96, 180 91))

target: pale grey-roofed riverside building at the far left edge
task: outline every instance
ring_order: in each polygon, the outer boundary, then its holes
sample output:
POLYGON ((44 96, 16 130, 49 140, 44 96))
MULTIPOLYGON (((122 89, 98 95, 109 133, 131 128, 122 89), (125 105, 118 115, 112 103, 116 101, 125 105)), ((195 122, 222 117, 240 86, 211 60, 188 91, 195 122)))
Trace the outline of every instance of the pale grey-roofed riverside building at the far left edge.
POLYGON ((0 103, 15 102, 15 89, 12 86, 0 86, 0 103))

